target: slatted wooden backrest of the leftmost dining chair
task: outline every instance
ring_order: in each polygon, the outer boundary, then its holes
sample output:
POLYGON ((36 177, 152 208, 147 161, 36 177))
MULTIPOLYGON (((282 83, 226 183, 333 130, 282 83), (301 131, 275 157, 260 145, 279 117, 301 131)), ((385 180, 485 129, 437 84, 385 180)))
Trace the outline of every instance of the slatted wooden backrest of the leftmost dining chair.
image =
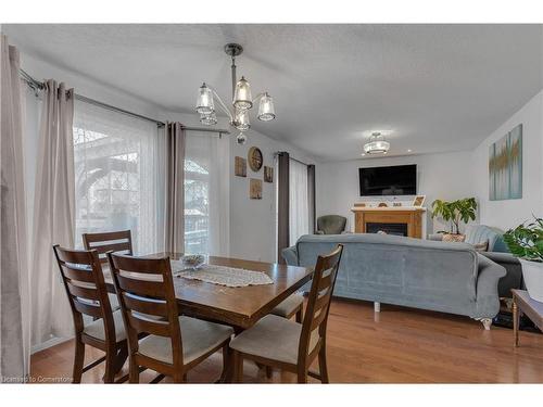
POLYGON ((115 343, 115 325, 98 252, 68 250, 58 244, 53 251, 72 307, 76 335, 84 330, 83 316, 88 315, 102 319, 105 342, 115 343))

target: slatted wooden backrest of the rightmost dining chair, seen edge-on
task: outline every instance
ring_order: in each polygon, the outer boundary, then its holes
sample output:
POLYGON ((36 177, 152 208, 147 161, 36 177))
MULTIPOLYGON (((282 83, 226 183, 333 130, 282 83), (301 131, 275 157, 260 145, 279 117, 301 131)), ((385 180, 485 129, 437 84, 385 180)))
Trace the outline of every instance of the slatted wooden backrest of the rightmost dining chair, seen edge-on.
POLYGON ((308 353, 314 348, 315 338, 324 340, 326 336, 328 311, 330 310, 330 301, 342 253, 343 245, 338 244, 338 247, 330 254, 317 257, 311 291, 307 297, 307 308, 302 322, 299 357, 306 358, 308 356, 308 353), (318 330, 316 332, 318 336, 315 336, 313 333, 316 330, 318 330))

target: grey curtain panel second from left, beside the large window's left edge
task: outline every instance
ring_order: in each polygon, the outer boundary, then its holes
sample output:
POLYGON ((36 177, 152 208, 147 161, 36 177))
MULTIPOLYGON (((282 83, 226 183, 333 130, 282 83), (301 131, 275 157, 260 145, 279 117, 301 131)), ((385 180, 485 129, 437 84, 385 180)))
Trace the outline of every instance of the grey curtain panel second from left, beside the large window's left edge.
POLYGON ((42 97, 30 272, 33 345, 74 333, 51 249, 56 243, 74 246, 74 90, 48 80, 42 97))

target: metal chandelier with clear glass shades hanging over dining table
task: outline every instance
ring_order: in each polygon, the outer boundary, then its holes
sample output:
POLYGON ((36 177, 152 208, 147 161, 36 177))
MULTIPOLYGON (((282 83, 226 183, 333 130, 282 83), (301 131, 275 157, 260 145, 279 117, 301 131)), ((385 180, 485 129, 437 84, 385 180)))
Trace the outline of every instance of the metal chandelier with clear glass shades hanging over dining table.
POLYGON ((251 86, 242 76, 238 80, 236 76, 236 56, 243 52, 243 48, 238 43, 227 43, 225 52, 232 60, 232 102, 231 107, 223 102, 217 92, 205 82, 200 87, 200 92, 197 101, 197 112, 200 114, 200 123, 206 126, 217 124, 217 115, 215 113, 215 99, 218 107, 228 116, 230 126, 237 128, 240 133, 237 137, 238 144, 244 144, 247 141, 245 131, 251 127, 249 120, 249 111, 258 102, 257 118, 262 122, 269 122, 275 118, 274 99, 268 92, 258 93, 256 98, 251 97, 251 86))

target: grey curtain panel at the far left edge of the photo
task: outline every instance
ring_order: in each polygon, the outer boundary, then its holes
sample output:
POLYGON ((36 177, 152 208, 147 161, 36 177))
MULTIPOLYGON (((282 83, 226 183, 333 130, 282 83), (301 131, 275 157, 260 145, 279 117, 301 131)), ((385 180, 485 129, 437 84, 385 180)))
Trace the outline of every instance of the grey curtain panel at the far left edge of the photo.
POLYGON ((0 52, 0 383, 9 383, 29 372, 30 317, 20 58, 4 35, 0 52))

